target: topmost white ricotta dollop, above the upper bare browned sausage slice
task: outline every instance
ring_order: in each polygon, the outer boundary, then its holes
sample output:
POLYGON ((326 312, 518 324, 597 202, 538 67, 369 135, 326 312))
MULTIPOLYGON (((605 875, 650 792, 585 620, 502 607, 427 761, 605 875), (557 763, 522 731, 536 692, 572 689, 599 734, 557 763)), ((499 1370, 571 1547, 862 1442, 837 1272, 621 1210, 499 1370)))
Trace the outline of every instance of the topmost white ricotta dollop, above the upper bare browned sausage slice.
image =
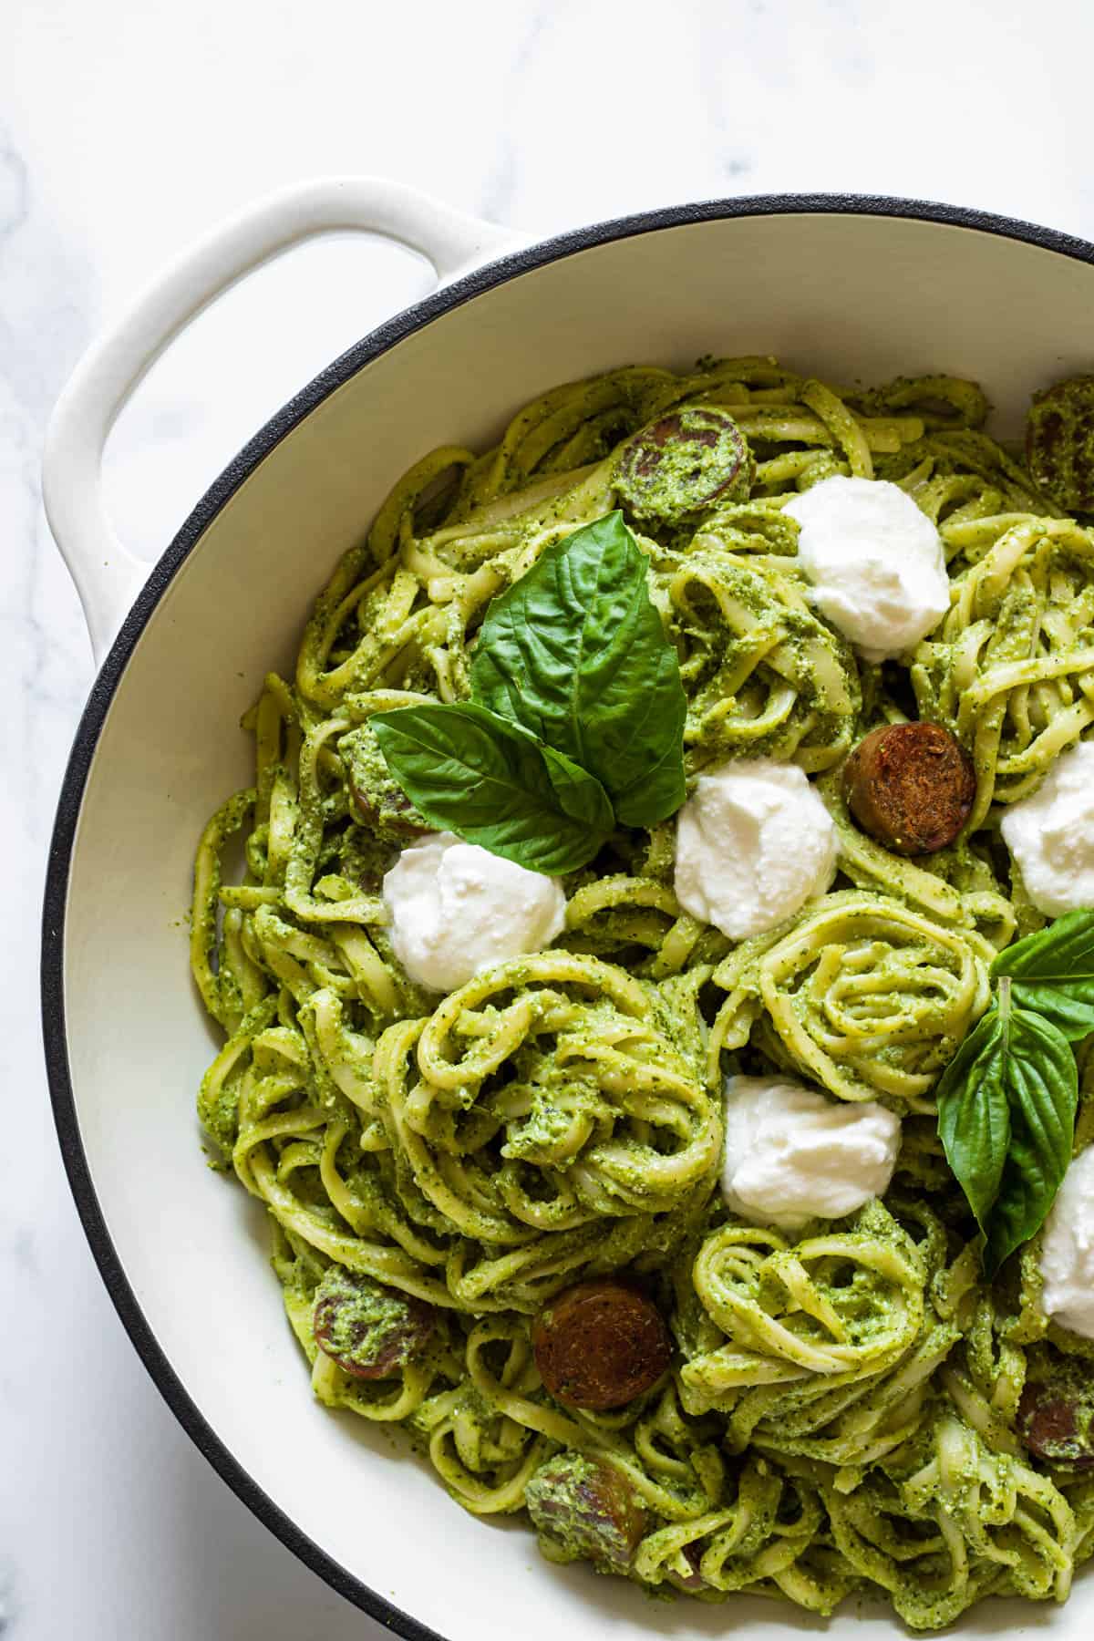
POLYGON ((938 532, 899 484, 836 474, 782 510, 814 604, 866 661, 912 650, 950 609, 938 532))

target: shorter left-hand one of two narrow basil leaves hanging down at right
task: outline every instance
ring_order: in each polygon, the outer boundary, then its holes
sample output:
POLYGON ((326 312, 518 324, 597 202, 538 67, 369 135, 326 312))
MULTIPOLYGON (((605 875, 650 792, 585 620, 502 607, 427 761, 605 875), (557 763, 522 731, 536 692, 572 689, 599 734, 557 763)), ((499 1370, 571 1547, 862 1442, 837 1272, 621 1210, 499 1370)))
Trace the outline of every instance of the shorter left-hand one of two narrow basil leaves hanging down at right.
POLYGON ((964 1037, 937 1088, 938 1134, 981 1231, 991 1211, 1010 1145, 1005 1049, 999 1009, 964 1037))

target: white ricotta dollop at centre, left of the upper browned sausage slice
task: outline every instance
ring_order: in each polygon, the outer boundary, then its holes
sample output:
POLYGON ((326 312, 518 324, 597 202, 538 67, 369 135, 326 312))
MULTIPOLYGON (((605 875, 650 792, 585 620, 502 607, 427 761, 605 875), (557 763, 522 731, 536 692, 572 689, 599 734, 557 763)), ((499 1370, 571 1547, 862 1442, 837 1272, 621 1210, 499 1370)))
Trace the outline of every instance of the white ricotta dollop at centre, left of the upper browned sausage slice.
POLYGON ((676 820, 676 898, 730 940, 774 929, 830 888, 836 830, 795 763, 700 775, 676 820))

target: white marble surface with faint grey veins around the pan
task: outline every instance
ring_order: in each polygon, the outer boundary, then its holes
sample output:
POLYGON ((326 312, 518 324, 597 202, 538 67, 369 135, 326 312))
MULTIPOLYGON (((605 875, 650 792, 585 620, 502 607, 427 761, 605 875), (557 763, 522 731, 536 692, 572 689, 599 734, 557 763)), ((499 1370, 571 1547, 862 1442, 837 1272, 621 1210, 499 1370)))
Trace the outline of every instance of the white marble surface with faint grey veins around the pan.
MULTIPOLYGON (((992 0, 3 0, 0 41, 0 1633, 341 1641, 374 1626, 174 1424, 61 1172, 38 912, 92 665, 38 497, 49 407, 166 258, 317 172, 389 174, 533 230, 704 195, 853 189, 1091 236, 1094 11, 1086 0, 1010 15, 992 0)), ((246 435, 422 289, 402 253, 331 241, 179 343, 110 450, 110 501, 134 550, 156 556, 246 435)))

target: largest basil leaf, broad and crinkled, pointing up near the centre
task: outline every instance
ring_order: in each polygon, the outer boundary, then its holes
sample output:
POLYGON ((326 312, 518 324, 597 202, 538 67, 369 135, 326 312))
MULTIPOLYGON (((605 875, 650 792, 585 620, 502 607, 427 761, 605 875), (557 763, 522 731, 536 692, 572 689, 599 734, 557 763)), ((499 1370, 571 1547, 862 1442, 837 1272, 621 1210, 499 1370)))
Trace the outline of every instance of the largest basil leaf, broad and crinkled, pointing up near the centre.
POLYGON ((490 604, 471 665, 477 702, 589 770, 627 825, 684 802, 676 650, 620 512, 551 543, 490 604))

